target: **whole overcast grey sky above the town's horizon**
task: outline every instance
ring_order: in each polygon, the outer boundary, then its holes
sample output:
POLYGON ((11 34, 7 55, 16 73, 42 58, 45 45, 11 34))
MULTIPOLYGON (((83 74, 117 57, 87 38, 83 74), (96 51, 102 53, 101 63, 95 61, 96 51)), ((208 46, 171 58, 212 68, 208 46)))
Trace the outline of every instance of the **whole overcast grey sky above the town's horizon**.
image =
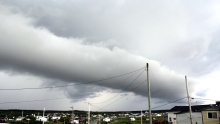
POLYGON ((220 100, 218 0, 1 0, 0 19, 0 109, 148 109, 146 63, 153 109, 187 105, 185 75, 193 105, 220 100))

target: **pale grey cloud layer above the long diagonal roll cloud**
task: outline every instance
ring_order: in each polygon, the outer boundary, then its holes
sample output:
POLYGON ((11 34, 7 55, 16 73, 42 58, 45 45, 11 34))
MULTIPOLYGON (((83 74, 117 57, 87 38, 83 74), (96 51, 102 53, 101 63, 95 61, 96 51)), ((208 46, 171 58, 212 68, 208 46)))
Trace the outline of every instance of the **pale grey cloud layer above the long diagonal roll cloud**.
MULTIPOLYGON (((206 54, 217 54, 213 51, 217 46, 212 48, 210 44, 219 40, 213 36, 219 29, 218 1, 9 0, 4 3, 16 6, 35 18, 36 26, 46 27, 57 36, 85 38, 85 42, 112 40, 114 45, 162 61, 181 73, 206 74, 217 66, 200 69, 204 67, 206 54)), ((215 62, 214 58, 208 59, 215 62)))

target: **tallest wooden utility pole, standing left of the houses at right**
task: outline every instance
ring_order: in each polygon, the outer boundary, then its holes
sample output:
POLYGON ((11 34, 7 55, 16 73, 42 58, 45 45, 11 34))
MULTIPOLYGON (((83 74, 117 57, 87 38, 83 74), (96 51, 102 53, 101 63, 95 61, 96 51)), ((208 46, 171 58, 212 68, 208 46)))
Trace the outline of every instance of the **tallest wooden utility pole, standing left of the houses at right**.
POLYGON ((151 115, 151 95, 150 95, 150 79, 149 79, 149 71, 148 71, 148 63, 147 63, 147 84, 148 84, 148 109, 149 109, 149 121, 152 124, 152 115, 151 115))

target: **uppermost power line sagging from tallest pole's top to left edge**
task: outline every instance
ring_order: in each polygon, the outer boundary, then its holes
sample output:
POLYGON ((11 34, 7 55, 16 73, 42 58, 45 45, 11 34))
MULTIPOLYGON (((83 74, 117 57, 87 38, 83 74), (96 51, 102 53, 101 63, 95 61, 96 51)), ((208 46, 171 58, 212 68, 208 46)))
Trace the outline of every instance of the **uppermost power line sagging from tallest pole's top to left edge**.
POLYGON ((74 85, 84 85, 84 84, 92 84, 92 83, 97 83, 97 82, 101 82, 101 81, 105 81, 105 80, 110 80, 110 79, 113 79, 113 78, 118 78, 118 77, 122 77, 122 76, 125 76, 125 75, 128 75, 128 74, 131 74, 131 73, 135 73, 137 71, 140 71, 144 69, 144 67, 140 68, 140 69, 137 69, 135 71, 132 71, 132 72, 128 72, 128 73, 125 73, 125 74, 121 74, 121 75, 118 75, 118 76, 114 76, 114 77, 109 77, 109 78, 105 78, 105 79, 100 79, 100 80, 96 80, 96 81, 90 81, 90 82, 85 82, 85 83, 77 83, 77 84, 69 84, 69 85, 57 85, 57 86, 47 86, 47 87, 27 87, 27 88, 11 88, 11 89, 0 89, 1 90, 40 90, 40 89, 51 89, 51 88, 61 88, 61 87, 70 87, 70 86, 74 86, 74 85))

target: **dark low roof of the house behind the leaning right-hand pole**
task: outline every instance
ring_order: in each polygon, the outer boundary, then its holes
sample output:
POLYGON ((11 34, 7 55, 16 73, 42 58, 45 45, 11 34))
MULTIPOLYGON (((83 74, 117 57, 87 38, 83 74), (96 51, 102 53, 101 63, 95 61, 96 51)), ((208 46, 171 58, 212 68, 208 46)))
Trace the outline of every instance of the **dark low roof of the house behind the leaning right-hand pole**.
MULTIPOLYGON (((208 108, 213 108, 216 106, 215 104, 211 105, 194 105, 191 106, 192 112, 198 112, 201 110, 205 110, 208 108)), ((173 108, 170 109, 171 112, 188 112, 189 111, 189 106, 174 106, 173 108)))

